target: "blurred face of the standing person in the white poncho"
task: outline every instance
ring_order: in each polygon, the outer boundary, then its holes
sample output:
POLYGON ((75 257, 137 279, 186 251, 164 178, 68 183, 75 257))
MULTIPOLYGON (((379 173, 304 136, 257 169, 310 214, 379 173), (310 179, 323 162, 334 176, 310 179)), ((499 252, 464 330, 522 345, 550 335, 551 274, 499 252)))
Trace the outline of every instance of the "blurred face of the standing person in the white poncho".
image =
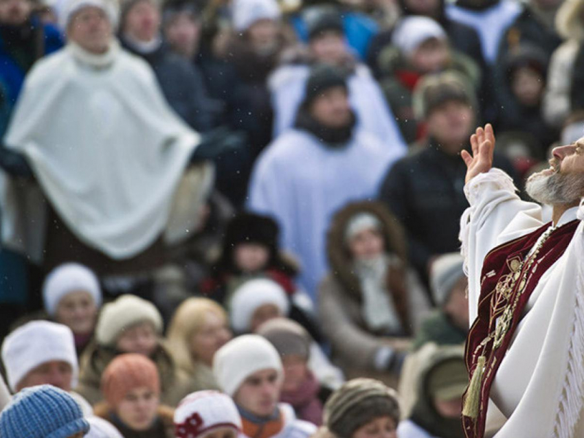
POLYGON ((93 6, 76 12, 67 26, 67 38, 92 54, 103 54, 109 47, 111 37, 111 23, 106 13, 93 6))

